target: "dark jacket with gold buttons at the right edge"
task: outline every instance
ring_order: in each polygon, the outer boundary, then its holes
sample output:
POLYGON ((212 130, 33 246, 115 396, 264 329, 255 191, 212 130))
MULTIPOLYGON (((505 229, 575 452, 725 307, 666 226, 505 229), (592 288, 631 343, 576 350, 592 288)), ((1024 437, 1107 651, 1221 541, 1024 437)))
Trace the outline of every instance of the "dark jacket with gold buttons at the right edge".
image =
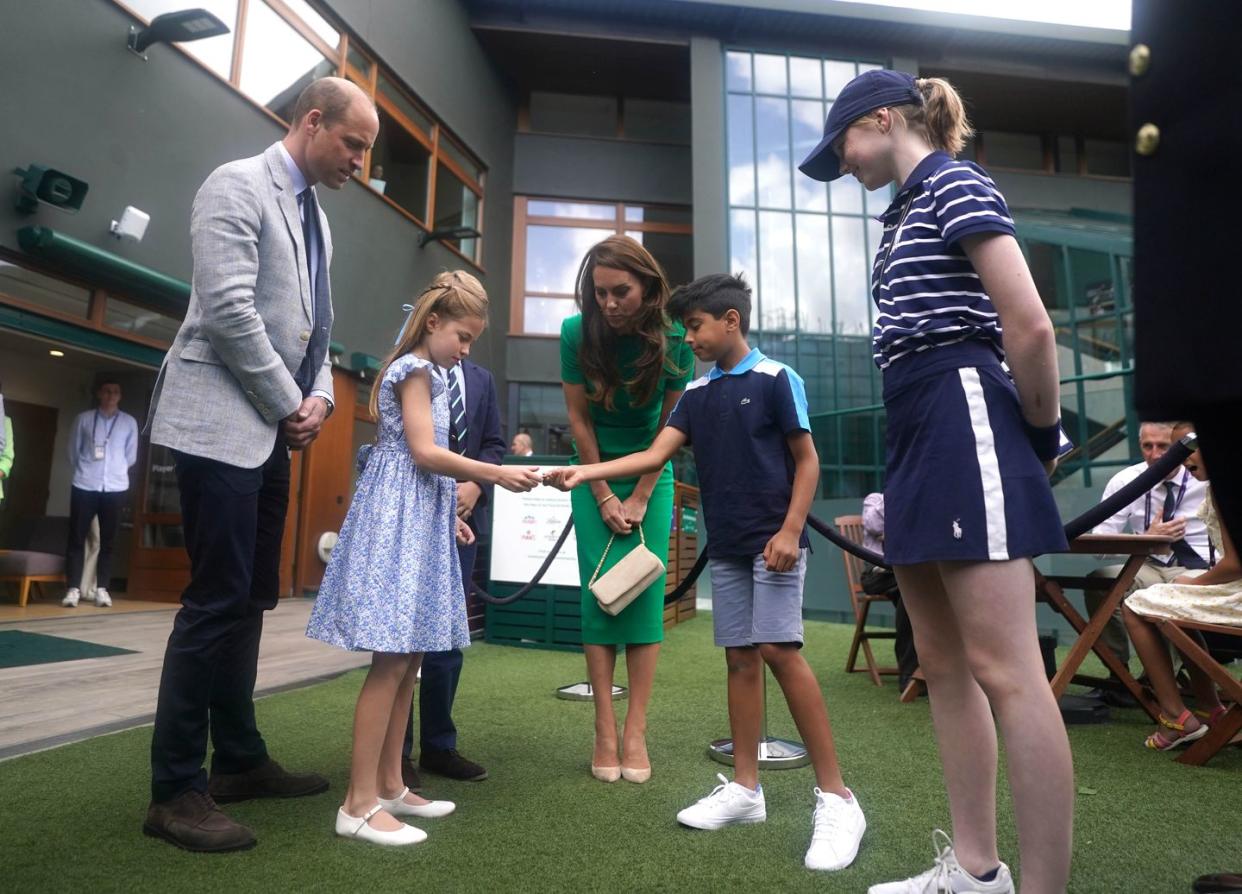
POLYGON ((1130 46, 1131 147, 1159 128, 1155 151, 1134 153, 1135 404, 1144 418, 1195 417, 1242 400, 1233 282, 1242 176, 1242 9, 1217 0, 1135 0, 1130 46), (1140 51, 1141 52, 1141 51, 1140 51))

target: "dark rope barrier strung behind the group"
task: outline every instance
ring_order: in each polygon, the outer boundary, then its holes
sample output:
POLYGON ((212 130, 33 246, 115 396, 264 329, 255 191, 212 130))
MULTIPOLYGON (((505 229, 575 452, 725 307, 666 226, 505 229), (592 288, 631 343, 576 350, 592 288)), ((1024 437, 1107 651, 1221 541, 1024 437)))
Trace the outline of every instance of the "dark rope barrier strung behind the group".
MULTIPOLYGON (((1082 515, 1069 522, 1066 525, 1066 540, 1076 540, 1077 538, 1092 530, 1095 525, 1098 525, 1108 517, 1128 507, 1139 497, 1151 490, 1154 487, 1156 487, 1156 484, 1167 478, 1170 472, 1172 472, 1177 466, 1181 466, 1181 463, 1186 461, 1186 457, 1189 457, 1196 449, 1197 449, 1197 442, 1194 433, 1181 438, 1177 443, 1172 445, 1172 447, 1170 447, 1163 457, 1160 457, 1154 463, 1148 466, 1148 468, 1145 468, 1129 484, 1120 488, 1115 494, 1109 497, 1107 500, 1099 503, 1098 505, 1092 507, 1082 515)), ((876 565, 877 567, 886 567, 886 569, 892 567, 891 565, 888 565, 888 562, 884 561, 884 556, 862 546, 861 544, 856 544, 853 540, 848 540, 847 538, 842 536, 836 528, 826 523, 823 519, 817 518, 816 515, 809 513, 806 517, 806 524, 810 528, 814 528, 830 543, 832 543, 832 545, 837 546, 841 550, 845 550, 846 553, 858 556, 864 562, 869 562, 872 565, 876 565)), ((560 538, 558 538, 556 544, 551 548, 551 553, 549 553, 548 558, 544 559, 544 564, 539 566, 539 570, 535 572, 535 576, 530 579, 530 582, 523 585, 520 590, 504 597, 497 597, 492 596, 491 594, 484 591, 481 586, 474 584, 472 587, 474 595, 477 595, 484 602, 489 602, 491 605, 509 605, 510 602, 517 602, 519 598, 530 592, 530 590, 535 585, 538 585, 539 581, 543 579, 544 572, 548 571, 548 569, 551 566, 553 559, 556 558, 556 553, 560 550, 561 545, 564 545, 565 538, 569 536, 569 531, 573 526, 574 526, 574 519, 571 517, 569 522, 565 523, 565 530, 560 533, 560 538)), ((682 582, 678 584, 677 587, 671 594, 664 596, 664 605, 669 605, 682 598, 687 594, 687 591, 689 591, 689 589, 694 586, 694 582, 698 580, 698 576, 703 574, 704 567, 707 567, 707 550, 703 550, 699 554, 694 565, 691 567, 689 572, 687 572, 682 582)))

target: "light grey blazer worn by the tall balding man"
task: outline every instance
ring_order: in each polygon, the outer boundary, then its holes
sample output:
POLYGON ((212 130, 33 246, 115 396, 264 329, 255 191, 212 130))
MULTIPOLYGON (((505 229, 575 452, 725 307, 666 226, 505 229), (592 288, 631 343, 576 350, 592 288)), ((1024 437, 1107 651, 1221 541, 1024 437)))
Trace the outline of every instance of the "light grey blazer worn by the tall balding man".
MULTIPOLYGON (((330 264, 322 210, 319 231, 330 264)), ((257 468, 281 420, 302 402, 293 376, 313 307, 297 196, 278 144, 211 173, 194 199, 190 241, 190 307, 155 380, 152 442, 257 468)), ((328 356, 313 390, 332 395, 328 356)))

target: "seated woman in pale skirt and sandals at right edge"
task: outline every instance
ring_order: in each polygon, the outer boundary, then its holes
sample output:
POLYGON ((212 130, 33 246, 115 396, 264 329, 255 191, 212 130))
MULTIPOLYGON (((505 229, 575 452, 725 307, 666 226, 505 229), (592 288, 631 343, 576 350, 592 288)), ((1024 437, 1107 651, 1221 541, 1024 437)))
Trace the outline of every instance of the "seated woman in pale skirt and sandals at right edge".
MULTIPOLYGON (((1189 422, 1174 427, 1174 440, 1192 431, 1189 422)), ((1186 468, 1201 482, 1207 481, 1207 467, 1199 451, 1186 457, 1186 468)), ((1160 729, 1148 736, 1149 749, 1167 751, 1187 745, 1207 734, 1208 725, 1225 713, 1216 684, 1194 664, 1186 664, 1197 704, 1186 709, 1174 678, 1169 646, 1156 628, 1155 618, 1199 621, 1202 623, 1242 625, 1242 562, 1230 533, 1221 525, 1211 490, 1199 509, 1207 525, 1211 549, 1218 560, 1207 571, 1190 571, 1171 584, 1138 590, 1125 600, 1125 628, 1139 653, 1156 702, 1160 704, 1160 729)))

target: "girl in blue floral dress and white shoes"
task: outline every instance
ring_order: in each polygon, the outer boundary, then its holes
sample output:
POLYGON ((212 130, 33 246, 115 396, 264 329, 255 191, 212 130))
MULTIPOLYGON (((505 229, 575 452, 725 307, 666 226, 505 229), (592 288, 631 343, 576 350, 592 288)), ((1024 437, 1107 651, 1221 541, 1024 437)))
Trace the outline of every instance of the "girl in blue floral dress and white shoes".
POLYGON ((427 836, 399 817, 451 813, 401 782, 415 677, 424 652, 469 644, 455 536, 473 535, 456 514, 457 482, 529 490, 534 467, 493 466, 448 447, 443 370, 469 354, 487 325, 487 293, 465 271, 441 273, 419 296, 376 377, 371 413, 379 436, 332 551, 307 636, 373 652, 354 711, 349 790, 337 834, 375 844, 427 836))

